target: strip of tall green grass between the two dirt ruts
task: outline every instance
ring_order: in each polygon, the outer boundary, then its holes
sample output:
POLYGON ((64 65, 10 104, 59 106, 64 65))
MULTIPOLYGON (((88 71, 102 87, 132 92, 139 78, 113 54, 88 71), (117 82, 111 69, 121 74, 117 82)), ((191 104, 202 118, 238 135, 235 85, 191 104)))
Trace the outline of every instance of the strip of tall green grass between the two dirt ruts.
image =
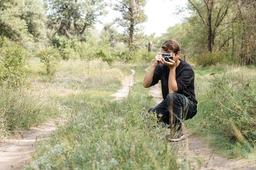
POLYGON ((70 98, 70 121, 58 128, 49 143, 40 146, 40 152, 27 169, 176 170, 182 167, 175 148, 160 140, 163 128, 158 126, 156 117, 150 115, 150 119, 144 120, 141 115, 152 104, 152 97, 142 86, 144 68, 133 68, 135 84, 121 101, 101 99, 77 107, 77 101, 87 101, 85 92, 70 98))

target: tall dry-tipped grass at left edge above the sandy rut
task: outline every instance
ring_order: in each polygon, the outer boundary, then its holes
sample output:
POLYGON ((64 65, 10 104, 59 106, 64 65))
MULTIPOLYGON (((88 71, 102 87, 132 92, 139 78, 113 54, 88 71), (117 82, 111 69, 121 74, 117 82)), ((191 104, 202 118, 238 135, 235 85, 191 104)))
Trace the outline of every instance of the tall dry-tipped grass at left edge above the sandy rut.
POLYGON ((0 137, 18 130, 28 130, 60 114, 59 105, 46 94, 30 91, 28 87, 2 86, 0 90, 0 137))

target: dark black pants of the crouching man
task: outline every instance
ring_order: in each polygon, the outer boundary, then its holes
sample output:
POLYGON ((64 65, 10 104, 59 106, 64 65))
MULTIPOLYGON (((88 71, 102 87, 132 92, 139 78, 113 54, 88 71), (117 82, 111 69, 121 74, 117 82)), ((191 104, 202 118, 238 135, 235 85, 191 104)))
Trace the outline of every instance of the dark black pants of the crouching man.
POLYGON ((179 93, 169 93, 166 100, 163 100, 149 113, 156 113, 159 121, 169 124, 176 129, 182 127, 182 121, 191 119, 197 113, 197 104, 191 98, 179 93))

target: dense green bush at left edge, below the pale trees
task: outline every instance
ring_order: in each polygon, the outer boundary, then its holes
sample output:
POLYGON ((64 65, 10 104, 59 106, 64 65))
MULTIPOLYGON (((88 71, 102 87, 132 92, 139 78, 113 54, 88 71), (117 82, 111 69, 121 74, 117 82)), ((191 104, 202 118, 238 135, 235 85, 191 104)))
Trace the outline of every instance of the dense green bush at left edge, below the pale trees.
POLYGON ((7 38, 0 39, 0 51, 0 86, 19 86, 26 76, 23 67, 27 51, 7 38))

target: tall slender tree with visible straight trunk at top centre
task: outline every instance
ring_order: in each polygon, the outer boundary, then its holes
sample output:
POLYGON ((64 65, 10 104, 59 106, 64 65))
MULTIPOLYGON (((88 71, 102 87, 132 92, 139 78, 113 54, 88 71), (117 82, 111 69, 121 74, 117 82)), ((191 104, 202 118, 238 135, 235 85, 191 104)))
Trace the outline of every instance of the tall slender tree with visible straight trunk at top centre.
POLYGON ((131 50, 136 48, 134 36, 142 31, 143 27, 139 24, 146 22, 147 17, 144 14, 146 0, 121 0, 117 1, 114 10, 121 13, 121 17, 116 18, 119 26, 124 28, 124 42, 128 44, 131 50))

